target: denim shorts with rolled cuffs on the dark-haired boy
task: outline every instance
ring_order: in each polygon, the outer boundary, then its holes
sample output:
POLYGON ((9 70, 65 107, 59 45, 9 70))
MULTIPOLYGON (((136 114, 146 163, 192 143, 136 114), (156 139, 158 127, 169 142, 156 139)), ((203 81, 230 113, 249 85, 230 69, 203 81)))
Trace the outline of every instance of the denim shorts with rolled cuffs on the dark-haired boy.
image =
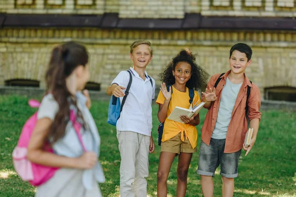
POLYGON ((221 164, 220 174, 223 177, 237 177, 241 150, 235 153, 224 153, 224 147, 225 139, 211 138, 209 146, 201 141, 197 174, 214 177, 217 167, 221 164))

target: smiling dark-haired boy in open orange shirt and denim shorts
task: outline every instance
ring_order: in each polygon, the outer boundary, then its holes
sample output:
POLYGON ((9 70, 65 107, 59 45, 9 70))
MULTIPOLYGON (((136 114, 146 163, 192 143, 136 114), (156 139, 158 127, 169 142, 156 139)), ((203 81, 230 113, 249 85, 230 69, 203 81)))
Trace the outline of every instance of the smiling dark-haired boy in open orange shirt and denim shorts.
POLYGON ((247 151, 247 155, 256 141, 261 118, 260 92, 245 74, 246 68, 251 64, 251 57, 250 46, 243 43, 233 45, 229 55, 230 70, 224 74, 213 75, 202 93, 202 101, 206 102, 204 107, 209 109, 201 130, 202 141, 197 169, 201 176, 204 197, 213 197, 212 177, 219 165, 222 197, 233 196, 241 149, 247 151), (219 78, 221 81, 217 85, 219 78), (250 96, 246 107, 248 87, 250 96), (247 117, 254 131, 251 144, 246 148, 244 138, 248 131, 247 117))

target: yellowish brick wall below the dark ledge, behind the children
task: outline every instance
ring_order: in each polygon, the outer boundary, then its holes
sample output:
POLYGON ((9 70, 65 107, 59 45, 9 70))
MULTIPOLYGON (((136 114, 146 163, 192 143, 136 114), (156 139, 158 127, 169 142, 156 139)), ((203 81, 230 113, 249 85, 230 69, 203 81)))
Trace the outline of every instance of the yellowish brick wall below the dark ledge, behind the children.
POLYGON ((197 63, 210 74, 229 69, 230 47, 237 42, 252 46, 249 78, 263 89, 273 86, 296 87, 295 32, 230 31, 132 31, 98 29, 0 29, 0 84, 15 78, 34 79, 44 87, 44 72, 53 46, 67 40, 84 43, 90 53, 91 82, 106 89, 121 70, 132 66, 129 45, 139 38, 152 42, 154 54, 148 65, 156 79, 170 60, 189 47, 198 54, 197 63))

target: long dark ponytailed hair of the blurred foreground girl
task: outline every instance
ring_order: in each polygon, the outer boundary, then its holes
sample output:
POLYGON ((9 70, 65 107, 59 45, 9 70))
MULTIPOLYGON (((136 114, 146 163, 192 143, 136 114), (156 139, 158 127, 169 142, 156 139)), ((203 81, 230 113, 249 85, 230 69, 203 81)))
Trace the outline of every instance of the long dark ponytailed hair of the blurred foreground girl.
MULTIPOLYGON (((59 104, 59 111, 47 136, 47 139, 51 139, 52 142, 65 135, 70 115, 70 104, 73 103, 76 106, 76 101, 72 99, 72 94, 66 86, 66 78, 71 75, 77 66, 86 66, 87 63, 88 53, 86 48, 76 42, 66 42, 52 50, 45 76, 46 92, 51 93, 59 104)), ((78 111, 77 115, 79 116, 78 111)))

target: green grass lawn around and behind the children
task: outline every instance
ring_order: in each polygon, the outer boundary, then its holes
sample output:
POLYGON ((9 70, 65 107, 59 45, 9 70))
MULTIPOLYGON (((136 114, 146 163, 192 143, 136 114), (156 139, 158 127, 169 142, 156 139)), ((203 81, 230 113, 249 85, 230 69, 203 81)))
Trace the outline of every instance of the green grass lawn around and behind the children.
MULTIPOLYGON (((34 113, 27 104, 28 98, 0 96, 0 197, 33 197, 35 188, 23 182, 15 173, 11 153, 15 147, 22 126, 34 113)), ((153 104, 153 138, 157 143, 157 110, 153 104)), ((200 112, 200 130, 206 114, 200 112)), ((100 187, 104 197, 119 196, 120 155, 116 129, 106 123, 108 102, 93 101, 91 112, 98 126, 102 144, 100 161, 103 164, 106 183, 100 187)), ((157 167, 160 147, 156 145, 149 156, 148 195, 156 196, 157 167)), ((243 152, 244 153, 244 152, 243 152)), ((186 197, 202 196, 200 177, 196 174, 198 153, 193 154, 188 172, 186 197)), ((177 160, 168 178, 168 194, 176 197, 177 160)), ((222 180, 219 169, 214 177, 215 194, 222 196, 222 180)), ((247 157, 242 154, 239 177, 235 179, 235 197, 296 197, 296 113, 263 111, 257 142, 247 157)))

